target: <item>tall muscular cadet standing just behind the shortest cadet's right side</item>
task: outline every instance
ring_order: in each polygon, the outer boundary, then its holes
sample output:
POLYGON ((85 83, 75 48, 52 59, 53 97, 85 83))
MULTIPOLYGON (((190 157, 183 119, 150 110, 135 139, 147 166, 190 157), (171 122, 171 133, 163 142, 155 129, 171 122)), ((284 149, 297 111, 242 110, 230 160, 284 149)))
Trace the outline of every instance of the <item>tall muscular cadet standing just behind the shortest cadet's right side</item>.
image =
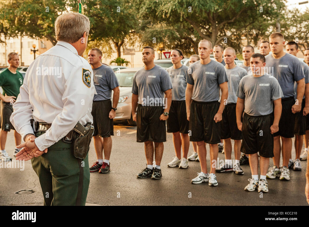
POLYGON ((280 32, 274 32, 269 36, 269 45, 272 54, 265 57, 266 68, 278 80, 284 97, 281 100, 282 114, 279 122, 279 131, 273 135, 273 167, 269 168, 267 178, 274 179, 280 176, 280 180, 290 180, 288 169, 292 151, 292 137, 294 137, 295 113, 302 109, 305 93, 305 74, 301 62, 292 54, 283 51, 284 36, 280 32), (294 83, 297 83, 297 92, 294 83), (294 96, 297 96, 295 101, 294 96), (282 147, 280 143, 282 140, 282 147), (282 151, 282 168, 279 167, 282 151))

